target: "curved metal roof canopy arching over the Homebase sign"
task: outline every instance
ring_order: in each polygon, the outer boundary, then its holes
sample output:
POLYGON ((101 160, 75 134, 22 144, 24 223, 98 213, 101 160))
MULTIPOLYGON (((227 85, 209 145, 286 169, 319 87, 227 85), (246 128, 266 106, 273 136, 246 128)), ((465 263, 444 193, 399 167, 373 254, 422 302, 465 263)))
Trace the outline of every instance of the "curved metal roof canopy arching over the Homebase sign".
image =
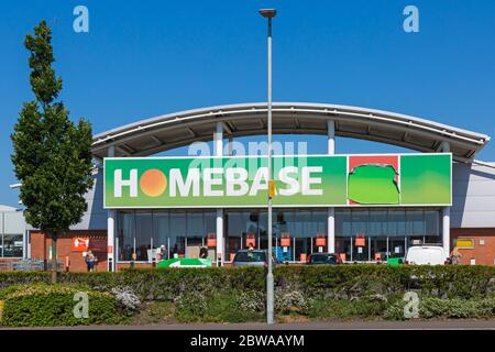
MULTIPOLYGON (((224 136, 266 133, 266 102, 218 106, 180 111, 141 120, 94 136, 92 153, 107 156, 110 145, 116 156, 147 156, 162 151, 211 141, 218 121, 224 136)), ((438 152, 450 143, 453 158, 471 162, 490 136, 406 114, 358 107, 274 102, 273 133, 324 134, 327 120, 336 121, 336 135, 394 144, 420 152, 438 152)))

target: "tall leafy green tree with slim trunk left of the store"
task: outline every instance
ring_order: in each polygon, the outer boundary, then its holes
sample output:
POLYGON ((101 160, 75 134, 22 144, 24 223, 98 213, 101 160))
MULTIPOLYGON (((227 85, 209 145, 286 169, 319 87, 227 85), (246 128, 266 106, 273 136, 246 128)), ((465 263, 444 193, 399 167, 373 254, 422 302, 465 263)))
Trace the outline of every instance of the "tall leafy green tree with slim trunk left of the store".
POLYGON ((92 187, 91 125, 73 123, 56 101, 62 78, 55 76, 52 31, 45 21, 28 34, 30 82, 34 100, 24 102, 11 135, 14 173, 26 221, 52 235, 52 282, 57 278, 57 237, 80 221, 87 210, 84 195, 92 187))

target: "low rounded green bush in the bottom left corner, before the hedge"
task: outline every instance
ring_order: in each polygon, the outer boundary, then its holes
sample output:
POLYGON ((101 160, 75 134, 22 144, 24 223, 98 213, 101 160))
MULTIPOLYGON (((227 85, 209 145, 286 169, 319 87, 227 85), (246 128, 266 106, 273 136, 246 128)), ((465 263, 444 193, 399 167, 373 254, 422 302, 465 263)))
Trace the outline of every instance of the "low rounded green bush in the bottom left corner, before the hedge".
POLYGON ((119 323, 116 297, 85 285, 16 285, 1 293, 4 301, 1 324, 7 327, 54 327, 119 323), (88 295, 88 318, 74 315, 76 293, 88 295))

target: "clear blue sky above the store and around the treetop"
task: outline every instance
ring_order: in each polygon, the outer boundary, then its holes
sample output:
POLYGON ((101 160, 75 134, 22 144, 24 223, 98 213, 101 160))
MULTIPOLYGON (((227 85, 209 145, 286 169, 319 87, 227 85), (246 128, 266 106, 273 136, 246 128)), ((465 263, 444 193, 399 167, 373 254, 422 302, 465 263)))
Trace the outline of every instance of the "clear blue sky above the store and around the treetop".
MULTIPOLYGON (((495 1, 2 1, 0 204, 16 204, 10 134, 32 99, 23 37, 53 28, 55 68, 70 117, 94 132, 215 105, 264 101, 266 22, 276 7, 274 100, 361 106, 495 135, 495 1), (73 9, 89 9, 89 33, 73 9), (419 9, 419 33, 403 10, 419 9)), ((297 139, 296 139, 297 140, 297 139)), ((373 145, 373 152, 395 152, 373 145)), ((338 139, 337 152, 370 151, 338 139)), ((324 152, 315 139, 309 152, 324 152)), ((479 155, 495 161, 491 144, 479 155)))

